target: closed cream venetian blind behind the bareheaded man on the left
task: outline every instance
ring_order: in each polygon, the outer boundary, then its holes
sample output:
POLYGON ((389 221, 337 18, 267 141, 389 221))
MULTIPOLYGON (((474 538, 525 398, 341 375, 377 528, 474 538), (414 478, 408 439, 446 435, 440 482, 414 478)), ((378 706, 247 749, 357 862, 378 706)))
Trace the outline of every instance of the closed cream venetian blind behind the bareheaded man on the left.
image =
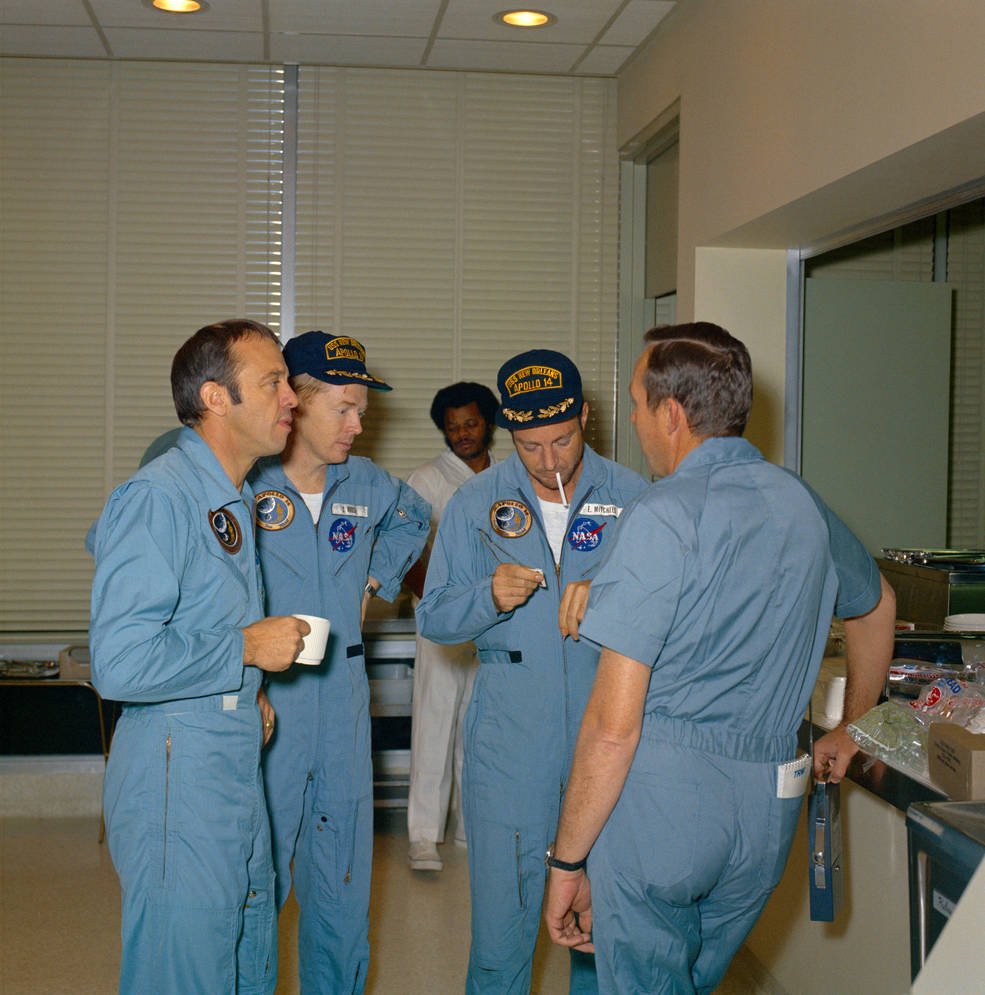
POLYGON ((0 61, 0 635, 88 627, 87 529, 177 424, 175 350, 278 326, 281 72, 0 61))

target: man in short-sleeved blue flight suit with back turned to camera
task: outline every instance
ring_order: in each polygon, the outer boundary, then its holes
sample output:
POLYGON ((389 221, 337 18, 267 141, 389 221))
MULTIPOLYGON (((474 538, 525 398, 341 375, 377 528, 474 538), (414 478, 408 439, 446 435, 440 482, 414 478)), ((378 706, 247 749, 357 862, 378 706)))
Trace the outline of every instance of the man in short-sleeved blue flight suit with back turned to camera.
POLYGON ((710 993, 783 873, 832 611, 845 720, 814 767, 836 782, 857 750, 844 726, 885 680, 895 599, 823 501, 741 438, 745 346, 705 322, 646 343, 632 420, 663 479, 626 510, 580 627, 605 648, 544 916, 557 942, 596 951, 603 992, 710 993))

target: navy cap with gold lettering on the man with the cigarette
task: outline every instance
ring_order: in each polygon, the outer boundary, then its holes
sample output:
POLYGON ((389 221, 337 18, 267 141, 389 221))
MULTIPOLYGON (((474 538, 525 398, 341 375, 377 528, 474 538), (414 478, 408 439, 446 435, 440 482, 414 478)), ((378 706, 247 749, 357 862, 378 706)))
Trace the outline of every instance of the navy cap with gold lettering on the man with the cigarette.
POLYGON ((500 428, 537 428, 581 414, 581 374, 563 353, 530 349, 499 368, 500 428))

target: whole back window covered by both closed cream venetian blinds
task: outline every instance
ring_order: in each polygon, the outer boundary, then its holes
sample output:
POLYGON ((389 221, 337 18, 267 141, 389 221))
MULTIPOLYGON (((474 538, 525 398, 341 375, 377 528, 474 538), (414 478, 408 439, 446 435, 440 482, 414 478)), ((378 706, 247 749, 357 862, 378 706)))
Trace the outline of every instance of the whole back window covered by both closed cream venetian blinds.
MULTIPOLYGON (((175 350, 223 318, 279 328, 284 74, 0 73, 0 638, 84 638, 83 538, 176 424, 175 350)), ((442 445, 437 389, 547 347, 611 453, 615 126, 612 80, 300 71, 294 327, 355 336, 396 388, 360 452, 406 475, 442 445)))

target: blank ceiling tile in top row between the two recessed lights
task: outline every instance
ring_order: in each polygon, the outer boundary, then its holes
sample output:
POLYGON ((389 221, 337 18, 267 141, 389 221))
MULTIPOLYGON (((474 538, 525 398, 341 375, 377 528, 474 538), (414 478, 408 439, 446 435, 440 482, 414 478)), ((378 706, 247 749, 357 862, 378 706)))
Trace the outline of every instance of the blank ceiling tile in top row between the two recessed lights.
POLYGON ((270 0, 270 30, 428 38, 439 6, 438 0, 270 0))

